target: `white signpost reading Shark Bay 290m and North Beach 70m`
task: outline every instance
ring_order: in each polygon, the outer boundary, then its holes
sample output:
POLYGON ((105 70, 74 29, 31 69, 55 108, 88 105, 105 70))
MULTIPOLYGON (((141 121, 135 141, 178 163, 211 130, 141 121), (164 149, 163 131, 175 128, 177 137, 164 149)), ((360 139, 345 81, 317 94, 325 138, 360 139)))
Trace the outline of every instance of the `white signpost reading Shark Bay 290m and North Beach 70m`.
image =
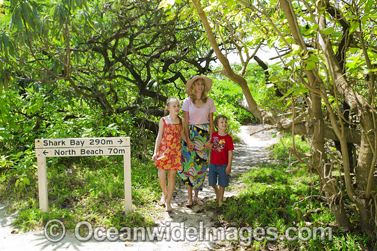
POLYGON ((132 211, 130 137, 36 139, 39 208, 49 211, 46 157, 123 155, 125 213, 132 211))

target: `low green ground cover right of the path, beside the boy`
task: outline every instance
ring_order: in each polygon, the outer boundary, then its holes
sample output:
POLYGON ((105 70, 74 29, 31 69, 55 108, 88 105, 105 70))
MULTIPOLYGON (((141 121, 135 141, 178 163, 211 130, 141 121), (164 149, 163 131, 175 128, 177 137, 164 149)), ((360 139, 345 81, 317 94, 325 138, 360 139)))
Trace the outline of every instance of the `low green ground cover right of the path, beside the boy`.
MULTIPOLYGON (((324 240, 319 235, 317 240, 310 238, 308 241, 252 238, 247 243, 252 250, 269 250, 269 246, 279 246, 284 250, 375 250, 377 245, 372 237, 337 228, 326 202, 318 197, 318 186, 313 187, 317 184, 315 176, 310 176, 304 168, 294 173, 285 172, 289 169, 286 160, 290 142, 291 138, 285 138, 273 147, 275 157, 281 159, 278 165, 260 163, 239 178, 243 184, 236 188, 239 195, 226 198, 226 206, 213 209, 217 213, 217 225, 239 229, 274 228, 279 237, 291 227, 308 227, 311 230, 330 227, 333 231, 333 239, 327 235, 324 240)), ((308 150, 306 141, 297 141, 297 145, 301 150, 308 150)), ((234 247, 240 245, 237 241, 231 244, 234 247)))

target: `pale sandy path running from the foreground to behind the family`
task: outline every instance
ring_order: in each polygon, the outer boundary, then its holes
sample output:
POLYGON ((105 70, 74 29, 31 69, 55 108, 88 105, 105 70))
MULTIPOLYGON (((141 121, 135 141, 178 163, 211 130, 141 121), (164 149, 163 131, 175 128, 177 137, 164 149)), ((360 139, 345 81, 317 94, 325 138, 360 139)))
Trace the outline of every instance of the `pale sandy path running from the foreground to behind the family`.
MULTIPOLYGON (((263 129, 262 125, 248 125, 241 127, 239 137, 241 141, 234 144, 234 159, 232 165, 232 187, 226 190, 224 197, 236 195, 236 187, 239 185, 236 178, 244 174, 248 169, 253 168, 256 163, 272 161, 269 158, 269 151, 265 149, 269 145, 276 142, 271 137, 271 132, 259 132, 250 136, 250 133, 263 129)), ((208 187, 208 180, 204 185, 203 191, 199 192, 199 198, 204 200, 208 205, 215 199, 215 193, 212 188, 208 187)), ((191 208, 185 206, 187 200, 186 187, 177 184, 173 195, 173 211, 163 213, 156 222, 159 226, 157 230, 165 227, 165 232, 171 231, 171 238, 165 235, 161 241, 141 240, 138 235, 138 241, 96 241, 94 238, 89 241, 80 241, 74 235, 66 234, 62 241, 53 243, 49 241, 44 232, 33 231, 27 233, 16 233, 16 228, 11 225, 15 214, 9 215, 5 212, 7 206, 0 204, 0 251, 12 250, 219 250, 217 243, 210 240, 199 239, 199 232, 205 228, 215 226, 212 219, 216 219, 216 215, 206 206, 194 205, 191 208), (189 228, 189 229, 188 229, 189 228), (195 229, 194 229, 195 228, 195 229), (189 231, 190 230, 190 231, 189 231), (176 235, 174 235, 174 233, 176 235), (180 235, 184 234, 184 239, 180 235), (176 238, 174 238, 176 237, 176 238), (175 241, 174 241, 175 239, 175 241), (189 241, 188 239, 191 239, 189 241)), ((202 236, 202 235, 200 235, 202 236)), ((224 249, 224 248, 223 248, 224 249)))

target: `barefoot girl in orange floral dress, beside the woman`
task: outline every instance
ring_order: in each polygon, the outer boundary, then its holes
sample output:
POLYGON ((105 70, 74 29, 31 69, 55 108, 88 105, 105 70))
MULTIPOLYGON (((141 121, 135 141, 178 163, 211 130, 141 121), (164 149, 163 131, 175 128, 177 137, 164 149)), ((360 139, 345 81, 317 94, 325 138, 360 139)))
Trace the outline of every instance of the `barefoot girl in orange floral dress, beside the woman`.
POLYGON ((158 135, 152 160, 158 167, 158 181, 162 190, 160 205, 165 204, 165 211, 171 208, 171 196, 175 186, 175 172, 182 170, 180 136, 184 137, 180 101, 177 97, 167 99, 165 117, 159 122, 158 135), (166 178, 168 176, 168 184, 166 178))

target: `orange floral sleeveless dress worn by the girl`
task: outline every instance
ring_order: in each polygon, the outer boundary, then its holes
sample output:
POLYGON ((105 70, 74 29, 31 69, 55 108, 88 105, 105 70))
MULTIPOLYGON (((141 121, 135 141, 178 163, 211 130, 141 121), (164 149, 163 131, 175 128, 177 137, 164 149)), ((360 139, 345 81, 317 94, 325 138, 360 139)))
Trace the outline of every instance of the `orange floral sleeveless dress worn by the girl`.
POLYGON ((181 171, 180 123, 167 123, 163 117, 162 121, 164 134, 154 165, 166 171, 181 171))

